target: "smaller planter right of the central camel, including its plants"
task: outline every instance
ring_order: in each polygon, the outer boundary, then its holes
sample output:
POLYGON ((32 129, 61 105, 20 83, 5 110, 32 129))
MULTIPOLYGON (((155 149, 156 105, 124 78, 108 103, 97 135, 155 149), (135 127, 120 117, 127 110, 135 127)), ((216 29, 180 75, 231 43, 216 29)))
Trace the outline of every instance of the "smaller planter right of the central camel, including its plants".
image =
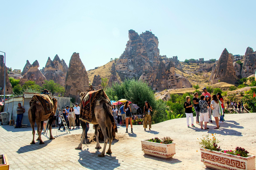
POLYGON ((151 156, 170 158, 175 154, 175 143, 172 141, 170 137, 141 140, 142 151, 151 156))

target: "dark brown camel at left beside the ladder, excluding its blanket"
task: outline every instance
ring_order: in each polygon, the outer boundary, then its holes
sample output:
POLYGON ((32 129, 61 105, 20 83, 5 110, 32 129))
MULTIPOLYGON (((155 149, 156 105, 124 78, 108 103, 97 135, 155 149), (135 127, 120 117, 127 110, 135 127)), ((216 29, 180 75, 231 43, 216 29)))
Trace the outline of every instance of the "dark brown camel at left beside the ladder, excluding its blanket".
POLYGON ((49 119, 49 131, 50 131, 50 140, 55 139, 52 136, 52 122, 54 119, 54 114, 56 112, 57 109, 57 99, 56 98, 52 98, 52 102, 53 102, 53 110, 54 113, 52 112, 51 114, 48 114, 46 116, 44 116, 44 109, 43 106, 40 104, 40 102, 33 102, 30 106, 30 108, 28 109, 28 119, 30 122, 30 125, 32 127, 32 133, 33 133, 33 139, 32 142, 30 144, 35 144, 34 138, 35 138, 35 122, 37 124, 37 134, 38 134, 38 138, 36 140, 39 140, 40 143, 39 144, 44 144, 44 142, 42 141, 41 138, 41 133, 43 130, 43 122, 49 119), (39 128, 40 126, 40 128, 39 128))

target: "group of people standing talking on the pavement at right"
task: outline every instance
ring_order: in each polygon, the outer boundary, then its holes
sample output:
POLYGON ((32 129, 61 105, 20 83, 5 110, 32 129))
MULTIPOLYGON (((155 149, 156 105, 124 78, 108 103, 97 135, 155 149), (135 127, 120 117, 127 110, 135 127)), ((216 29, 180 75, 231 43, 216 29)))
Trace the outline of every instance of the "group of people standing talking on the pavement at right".
MULTIPOLYGON (((212 115, 215 119, 216 127, 214 129, 219 129, 220 125, 224 123, 224 111, 225 105, 223 102, 223 97, 221 93, 212 95, 207 92, 206 87, 203 89, 202 95, 199 97, 197 92, 193 93, 192 102, 194 104, 194 109, 196 112, 196 124, 201 126, 201 129, 209 129, 207 123, 213 123, 212 115), (212 115, 211 115, 212 113, 212 115), (204 127, 203 127, 204 122, 204 127)), ((194 118, 192 111, 192 103, 189 96, 186 97, 186 102, 184 103, 187 127, 189 128, 189 118, 191 119, 191 126, 194 126, 194 118)))

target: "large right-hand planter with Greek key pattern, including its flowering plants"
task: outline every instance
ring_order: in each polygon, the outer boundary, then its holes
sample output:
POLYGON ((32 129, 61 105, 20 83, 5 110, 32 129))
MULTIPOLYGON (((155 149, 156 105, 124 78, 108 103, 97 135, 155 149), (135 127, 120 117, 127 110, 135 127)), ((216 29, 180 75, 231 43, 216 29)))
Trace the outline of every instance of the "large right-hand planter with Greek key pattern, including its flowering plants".
POLYGON ((219 143, 214 134, 204 135, 198 142, 202 148, 201 161, 211 169, 255 169, 255 156, 248 155, 244 148, 236 147, 235 150, 222 150, 217 146, 219 143))

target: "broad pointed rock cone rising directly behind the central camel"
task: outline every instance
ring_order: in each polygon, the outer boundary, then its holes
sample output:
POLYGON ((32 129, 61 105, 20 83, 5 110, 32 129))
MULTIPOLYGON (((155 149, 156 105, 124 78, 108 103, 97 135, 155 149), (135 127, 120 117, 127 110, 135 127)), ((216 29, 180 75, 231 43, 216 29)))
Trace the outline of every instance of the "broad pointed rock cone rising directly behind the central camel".
POLYGON ((86 91, 84 86, 89 86, 88 75, 79 53, 74 52, 69 61, 65 81, 65 97, 75 98, 76 102, 79 102, 79 94, 86 91))

